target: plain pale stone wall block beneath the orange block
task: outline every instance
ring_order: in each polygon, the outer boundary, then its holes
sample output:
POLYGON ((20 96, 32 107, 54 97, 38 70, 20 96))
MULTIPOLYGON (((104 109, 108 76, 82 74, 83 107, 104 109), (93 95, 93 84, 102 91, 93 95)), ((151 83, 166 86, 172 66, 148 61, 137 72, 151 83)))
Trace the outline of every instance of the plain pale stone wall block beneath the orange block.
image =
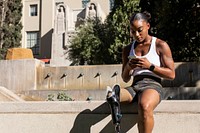
POLYGON ((37 59, 0 60, 0 86, 13 92, 34 90, 40 67, 44 63, 37 59))

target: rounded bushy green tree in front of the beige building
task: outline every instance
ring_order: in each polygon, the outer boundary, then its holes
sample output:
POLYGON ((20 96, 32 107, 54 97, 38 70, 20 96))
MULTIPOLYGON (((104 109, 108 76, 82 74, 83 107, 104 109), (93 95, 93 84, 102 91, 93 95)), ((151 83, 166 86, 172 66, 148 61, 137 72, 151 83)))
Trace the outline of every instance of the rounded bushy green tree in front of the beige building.
POLYGON ((108 27, 97 19, 88 19, 77 28, 77 34, 70 40, 69 59, 72 65, 94 65, 113 63, 109 53, 110 37, 108 27))

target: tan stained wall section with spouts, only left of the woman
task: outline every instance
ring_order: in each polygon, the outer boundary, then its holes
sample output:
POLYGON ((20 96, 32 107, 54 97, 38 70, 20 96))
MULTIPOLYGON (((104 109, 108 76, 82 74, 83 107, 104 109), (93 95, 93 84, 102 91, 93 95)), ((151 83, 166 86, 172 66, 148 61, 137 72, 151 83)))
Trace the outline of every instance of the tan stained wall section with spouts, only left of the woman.
POLYGON ((45 67, 38 73, 38 90, 106 89, 119 83, 121 65, 45 67))

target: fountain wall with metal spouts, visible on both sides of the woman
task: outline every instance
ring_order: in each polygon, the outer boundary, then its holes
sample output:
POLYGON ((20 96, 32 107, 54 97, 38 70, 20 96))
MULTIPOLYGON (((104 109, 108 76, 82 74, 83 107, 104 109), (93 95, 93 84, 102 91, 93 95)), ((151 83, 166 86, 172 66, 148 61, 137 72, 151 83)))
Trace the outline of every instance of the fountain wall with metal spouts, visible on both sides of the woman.
MULTIPOLYGON (((120 84, 122 87, 131 85, 122 81, 121 64, 45 67, 38 74, 39 90, 70 90, 70 89, 105 89, 106 86, 120 84), (49 75, 49 76, 48 76, 49 75)), ((199 87, 200 63, 175 63, 175 80, 163 80, 164 87, 199 87)))

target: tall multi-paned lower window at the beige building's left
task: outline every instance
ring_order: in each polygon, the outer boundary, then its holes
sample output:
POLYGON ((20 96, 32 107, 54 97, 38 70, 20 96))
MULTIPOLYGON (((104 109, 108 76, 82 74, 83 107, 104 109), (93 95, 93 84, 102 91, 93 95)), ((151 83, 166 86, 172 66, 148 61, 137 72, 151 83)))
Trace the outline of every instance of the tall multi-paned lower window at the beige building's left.
POLYGON ((27 48, 32 49, 33 55, 39 55, 39 32, 27 32, 27 48))

